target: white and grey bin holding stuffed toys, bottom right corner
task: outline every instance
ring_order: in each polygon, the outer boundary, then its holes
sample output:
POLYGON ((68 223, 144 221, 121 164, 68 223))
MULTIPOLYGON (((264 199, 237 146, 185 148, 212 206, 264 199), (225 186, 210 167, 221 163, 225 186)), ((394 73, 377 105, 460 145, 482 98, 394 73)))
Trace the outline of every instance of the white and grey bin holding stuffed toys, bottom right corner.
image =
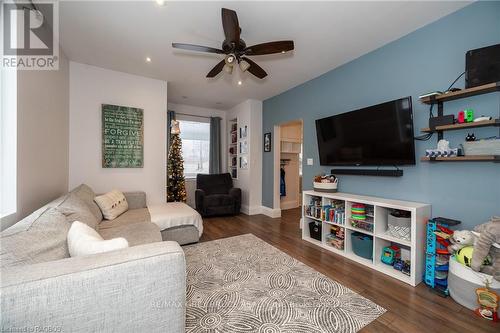
POLYGON ((451 298, 458 304, 465 306, 470 310, 479 307, 477 303, 476 289, 483 288, 482 279, 487 278, 491 281, 489 289, 500 295, 500 282, 493 279, 492 276, 483 273, 474 272, 471 268, 462 265, 450 258, 450 270, 448 272, 448 290, 451 298))

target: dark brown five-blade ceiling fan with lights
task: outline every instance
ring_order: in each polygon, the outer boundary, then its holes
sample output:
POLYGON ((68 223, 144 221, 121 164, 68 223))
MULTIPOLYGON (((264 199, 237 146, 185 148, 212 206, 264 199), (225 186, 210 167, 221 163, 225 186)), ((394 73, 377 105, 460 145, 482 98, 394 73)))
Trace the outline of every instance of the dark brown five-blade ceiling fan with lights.
POLYGON ((285 53, 293 50, 294 47, 292 40, 268 42, 247 47, 245 41, 240 37, 241 28, 238 23, 238 15, 231 9, 222 8, 222 27, 225 35, 222 49, 182 43, 172 43, 172 47, 190 51, 225 54, 224 60, 215 65, 208 72, 207 77, 215 77, 222 70, 231 74, 233 67, 238 64, 243 72, 248 70, 259 79, 265 78, 267 73, 262 67, 250 60, 248 56, 285 53))

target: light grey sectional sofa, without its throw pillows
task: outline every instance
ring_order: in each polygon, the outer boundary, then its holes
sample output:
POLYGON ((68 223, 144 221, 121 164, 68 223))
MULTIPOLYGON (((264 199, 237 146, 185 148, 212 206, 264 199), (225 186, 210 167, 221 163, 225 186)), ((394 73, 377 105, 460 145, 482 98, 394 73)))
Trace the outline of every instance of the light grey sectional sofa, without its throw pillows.
POLYGON ((184 252, 162 241, 144 193, 125 196, 129 210, 103 221, 95 193, 81 185, 2 231, 2 331, 184 332, 184 252), (70 257, 66 236, 75 220, 130 247, 70 257))

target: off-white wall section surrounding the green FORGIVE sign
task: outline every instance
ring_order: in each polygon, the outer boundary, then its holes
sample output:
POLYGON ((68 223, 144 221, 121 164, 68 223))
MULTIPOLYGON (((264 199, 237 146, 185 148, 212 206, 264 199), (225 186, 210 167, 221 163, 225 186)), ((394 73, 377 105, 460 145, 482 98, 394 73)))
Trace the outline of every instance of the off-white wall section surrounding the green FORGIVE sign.
POLYGON ((142 190, 166 201, 167 82, 70 62, 69 188, 142 190), (144 110, 144 167, 101 167, 101 104, 144 110))

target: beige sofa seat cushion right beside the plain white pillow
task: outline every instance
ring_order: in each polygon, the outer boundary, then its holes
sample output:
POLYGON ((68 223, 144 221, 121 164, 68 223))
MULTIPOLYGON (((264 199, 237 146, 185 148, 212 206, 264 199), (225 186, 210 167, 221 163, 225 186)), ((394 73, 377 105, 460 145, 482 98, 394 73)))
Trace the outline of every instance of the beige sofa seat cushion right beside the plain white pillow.
POLYGON ((99 234, 104 239, 123 237, 129 246, 161 242, 160 228, 151 222, 139 222, 118 225, 113 228, 99 229, 99 234))

